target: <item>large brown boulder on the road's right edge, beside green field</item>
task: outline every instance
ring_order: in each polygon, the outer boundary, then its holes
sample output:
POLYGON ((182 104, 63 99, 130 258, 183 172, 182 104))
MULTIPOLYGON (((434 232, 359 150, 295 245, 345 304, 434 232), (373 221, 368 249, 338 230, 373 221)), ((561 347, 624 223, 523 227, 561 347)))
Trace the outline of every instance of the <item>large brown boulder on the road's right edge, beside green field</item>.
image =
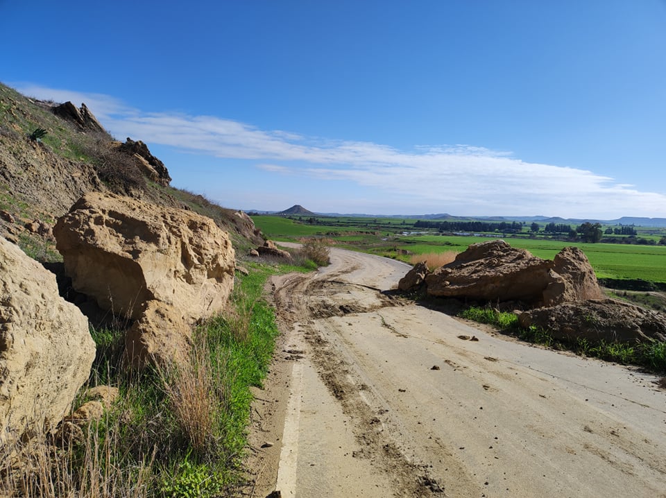
POLYGON ((502 240, 470 245, 455 261, 427 275, 425 282, 430 295, 480 301, 551 306, 601 297, 597 277, 581 250, 565 248, 549 261, 502 240))

